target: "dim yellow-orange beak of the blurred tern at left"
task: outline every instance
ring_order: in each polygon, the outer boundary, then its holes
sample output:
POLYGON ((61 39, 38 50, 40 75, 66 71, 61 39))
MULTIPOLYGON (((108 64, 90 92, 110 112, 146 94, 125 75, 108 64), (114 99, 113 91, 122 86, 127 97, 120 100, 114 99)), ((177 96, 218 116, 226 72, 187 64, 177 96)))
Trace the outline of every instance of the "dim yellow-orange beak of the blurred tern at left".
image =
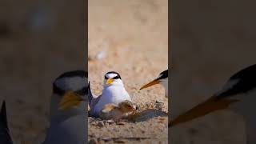
POLYGON ((63 96, 61 102, 59 103, 58 109, 66 110, 72 106, 78 106, 83 100, 84 99, 81 98, 78 94, 75 94, 73 90, 69 90, 63 96))

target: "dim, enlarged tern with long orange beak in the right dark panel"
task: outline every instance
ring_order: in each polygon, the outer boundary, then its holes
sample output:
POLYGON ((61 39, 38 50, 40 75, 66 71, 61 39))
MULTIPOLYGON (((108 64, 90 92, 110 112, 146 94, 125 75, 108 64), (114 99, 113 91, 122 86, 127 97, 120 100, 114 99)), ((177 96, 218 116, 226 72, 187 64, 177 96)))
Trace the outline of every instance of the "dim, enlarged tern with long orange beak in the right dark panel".
POLYGON ((169 126, 176 126, 200 118, 216 110, 234 110, 241 114, 246 122, 247 144, 256 143, 256 65, 238 71, 224 84, 214 96, 194 108, 180 114, 170 122, 169 126))

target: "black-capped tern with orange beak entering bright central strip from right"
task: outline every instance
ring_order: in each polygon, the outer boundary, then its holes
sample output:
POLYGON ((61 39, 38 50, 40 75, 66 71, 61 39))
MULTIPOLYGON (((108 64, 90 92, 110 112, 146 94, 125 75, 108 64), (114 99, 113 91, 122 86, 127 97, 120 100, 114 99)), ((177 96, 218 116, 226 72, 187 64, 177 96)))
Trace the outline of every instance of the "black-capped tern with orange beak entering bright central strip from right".
POLYGON ((165 70, 162 73, 160 73, 158 78, 155 78, 153 81, 142 86, 142 88, 140 88, 140 90, 145 89, 150 86, 154 86, 156 84, 161 84, 165 88, 166 98, 168 98, 168 70, 165 70))

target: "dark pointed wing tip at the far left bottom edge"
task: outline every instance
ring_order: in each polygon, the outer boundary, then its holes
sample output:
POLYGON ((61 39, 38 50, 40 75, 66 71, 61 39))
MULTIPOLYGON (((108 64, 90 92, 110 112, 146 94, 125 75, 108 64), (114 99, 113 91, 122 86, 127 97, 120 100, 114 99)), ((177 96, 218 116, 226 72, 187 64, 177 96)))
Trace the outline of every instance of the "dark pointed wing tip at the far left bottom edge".
POLYGON ((2 102, 2 109, 0 112, 0 142, 5 144, 14 144, 7 123, 5 101, 2 102))

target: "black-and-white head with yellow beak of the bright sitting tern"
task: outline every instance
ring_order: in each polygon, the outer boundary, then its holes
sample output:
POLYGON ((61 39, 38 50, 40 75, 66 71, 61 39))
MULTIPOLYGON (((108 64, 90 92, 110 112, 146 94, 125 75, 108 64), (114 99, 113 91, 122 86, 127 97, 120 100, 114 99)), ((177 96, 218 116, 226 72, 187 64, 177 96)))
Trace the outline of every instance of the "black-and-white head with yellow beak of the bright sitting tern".
POLYGON ((120 74, 115 71, 107 72, 104 76, 104 87, 120 85, 123 86, 120 74))

